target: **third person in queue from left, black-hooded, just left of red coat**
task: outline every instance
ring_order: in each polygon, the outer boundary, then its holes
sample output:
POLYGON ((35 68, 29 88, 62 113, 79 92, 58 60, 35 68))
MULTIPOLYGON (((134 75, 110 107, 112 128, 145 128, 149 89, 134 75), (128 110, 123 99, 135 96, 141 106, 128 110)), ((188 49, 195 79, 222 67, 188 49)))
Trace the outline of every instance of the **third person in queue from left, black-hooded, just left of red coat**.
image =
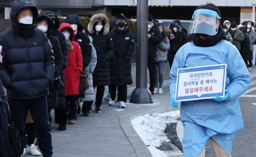
MULTIPOLYGON (((60 47, 62 49, 62 56, 63 56, 63 67, 59 69, 59 76, 62 80, 62 83, 65 84, 65 76, 64 76, 64 69, 66 68, 66 64, 68 61, 68 47, 66 44, 66 38, 58 29, 60 26, 59 18, 51 11, 43 12, 47 14, 55 24, 55 28, 52 31, 51 35, 55 36, 59 40, 60 47)), ((55 108, 55 123, 59 124, 60 130, 65 130, 67 116, 66 116, 66 97, 65 97, 65 88, 64 89, 57 89, 58 93, 58 101, 57 107, 55 108)))

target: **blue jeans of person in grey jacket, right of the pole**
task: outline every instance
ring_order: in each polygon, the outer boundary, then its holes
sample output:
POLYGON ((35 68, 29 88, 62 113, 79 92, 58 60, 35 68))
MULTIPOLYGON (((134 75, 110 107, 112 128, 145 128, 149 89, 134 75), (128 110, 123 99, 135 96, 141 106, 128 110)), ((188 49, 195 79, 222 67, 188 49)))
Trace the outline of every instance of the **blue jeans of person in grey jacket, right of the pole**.
POLYGON ((156 88, 163 88, 165 61, 156 62, 156 88), (159 82, 158 82, 159 80, 159 82))

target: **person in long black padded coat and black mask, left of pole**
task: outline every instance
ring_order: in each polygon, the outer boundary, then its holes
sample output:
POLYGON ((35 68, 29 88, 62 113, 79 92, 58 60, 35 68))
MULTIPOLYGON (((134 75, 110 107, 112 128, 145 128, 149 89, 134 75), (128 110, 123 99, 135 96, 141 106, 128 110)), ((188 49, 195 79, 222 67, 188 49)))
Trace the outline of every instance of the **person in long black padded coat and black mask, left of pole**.
POLYGON ((116 88, 118 92, 117 101, 119 108, 126 108, 127 84, 133 84, 131 76, 131 57, 133 56, 135 41, 133 34, 126 25, 126 16, 119 14, 116 17, 116 26, 109 33, 113 39, 116 59, 109 61, 111 99, 109 105, 114 105, 116 100, 116 88))

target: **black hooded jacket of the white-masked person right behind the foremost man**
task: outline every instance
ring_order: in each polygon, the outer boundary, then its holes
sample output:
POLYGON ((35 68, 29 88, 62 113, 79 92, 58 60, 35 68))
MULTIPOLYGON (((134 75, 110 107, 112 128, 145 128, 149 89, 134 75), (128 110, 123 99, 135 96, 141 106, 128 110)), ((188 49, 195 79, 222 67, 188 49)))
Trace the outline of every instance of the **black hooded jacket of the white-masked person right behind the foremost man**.
MULTIPOLYGON (((54 37, 51 35, 52 29, 54 29, 54 23, 52 19, 44 13, 40 13, 38 15, 36 23, 39 23, 43 20, 46 20, 48 23, 48 30, 46 34, 48 39, 51 42, 52 50, 54 53, 55 66, 57 67, 57 70, 55 68, 54 75, 59 76, 59 70, 62 69, 62 62, 63 62, 62 50, 60 48, 59 40, 57 39, 57 37, 54 37)), ((48 104, 48 108, 56 108, 57 106, 57 89, 54 83, 49 85, 49 95, 47 96, 47 104, 48 104)))

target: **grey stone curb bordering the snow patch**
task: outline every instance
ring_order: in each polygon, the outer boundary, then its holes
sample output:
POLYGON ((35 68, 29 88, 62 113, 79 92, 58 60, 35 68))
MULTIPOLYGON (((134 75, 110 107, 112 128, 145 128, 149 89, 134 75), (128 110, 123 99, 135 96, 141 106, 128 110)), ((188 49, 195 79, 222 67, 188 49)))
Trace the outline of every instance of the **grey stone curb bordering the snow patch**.
MULTIPOLYGON (((141 104, 141 105, 145 105, 145 107, 147 106, 147 104, 141 104)), ((149 115, 152 115, 153 113, 163 113, 163 112, 169 112, 173 110, 168 104, 155 103, 154 106, 152 106, 152 104, 148 104, 148 105, 149 106, 151 105, 151 106, 149 108, 145 108, 143 110, 137 110, 136 112, 129 113, 127 115, 123 115, 119 117, 121 128, 126 134, 126 137, 130 141, 138 157, 152 157, 152 154, 150 153, 145 143, 142 141, 140 136, 137 134, 137 132, 133 128, 131 120, 133 120, 135 117, 142 116, 147 113, 149 115)))

